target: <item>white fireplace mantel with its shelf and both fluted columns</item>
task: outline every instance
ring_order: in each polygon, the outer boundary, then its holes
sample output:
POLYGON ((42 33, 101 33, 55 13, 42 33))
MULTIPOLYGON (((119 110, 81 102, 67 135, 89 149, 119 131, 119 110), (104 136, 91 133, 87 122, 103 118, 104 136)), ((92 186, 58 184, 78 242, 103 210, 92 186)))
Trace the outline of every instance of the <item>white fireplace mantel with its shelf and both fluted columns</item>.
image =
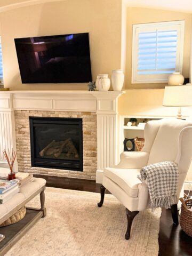
POLYGON ((3 149, 15 148, 14 110, 92 111, 97 114, 98 167, 102 170, 117 162, 118 98, 124 91, 3 91, 0 92, 0 164, 3 149))

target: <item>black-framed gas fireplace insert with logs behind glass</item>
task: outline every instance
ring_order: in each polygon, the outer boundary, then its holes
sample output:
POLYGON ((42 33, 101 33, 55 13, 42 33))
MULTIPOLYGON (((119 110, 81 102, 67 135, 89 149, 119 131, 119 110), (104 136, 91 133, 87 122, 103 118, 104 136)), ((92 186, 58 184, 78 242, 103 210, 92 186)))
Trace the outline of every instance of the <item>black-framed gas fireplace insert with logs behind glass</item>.
POLYGON ((82 118, 29 117, 31 166, 83 171, 82 118))

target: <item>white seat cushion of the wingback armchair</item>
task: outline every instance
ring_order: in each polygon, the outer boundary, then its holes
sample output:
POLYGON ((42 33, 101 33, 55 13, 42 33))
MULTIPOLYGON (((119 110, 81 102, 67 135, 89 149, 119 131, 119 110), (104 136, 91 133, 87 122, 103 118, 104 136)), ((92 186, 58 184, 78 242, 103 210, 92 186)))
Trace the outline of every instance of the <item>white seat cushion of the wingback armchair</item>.
POLYGON ((118 184, 131 197, 138 197, 138 186, 142 183, 137 176, 140 169, 106 168, 104 175, 118 184))

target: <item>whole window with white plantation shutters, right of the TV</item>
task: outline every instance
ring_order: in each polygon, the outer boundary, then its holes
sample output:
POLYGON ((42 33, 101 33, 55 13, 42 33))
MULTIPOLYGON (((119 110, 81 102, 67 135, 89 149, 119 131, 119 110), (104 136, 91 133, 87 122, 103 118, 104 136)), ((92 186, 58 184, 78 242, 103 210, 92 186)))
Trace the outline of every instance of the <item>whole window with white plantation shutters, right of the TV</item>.
POLYGON ((182 73, 185 21, 133 25, 132 83, 166 83, 182 73))

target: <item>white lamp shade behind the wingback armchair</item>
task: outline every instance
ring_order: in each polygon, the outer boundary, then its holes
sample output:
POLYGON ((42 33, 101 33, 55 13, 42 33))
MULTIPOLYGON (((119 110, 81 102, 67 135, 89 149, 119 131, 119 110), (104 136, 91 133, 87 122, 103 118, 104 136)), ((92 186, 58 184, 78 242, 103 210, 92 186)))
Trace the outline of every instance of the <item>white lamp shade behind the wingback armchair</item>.
POLYGON ((165 86, 163 106, 192 106, 192 85, 165 86))

